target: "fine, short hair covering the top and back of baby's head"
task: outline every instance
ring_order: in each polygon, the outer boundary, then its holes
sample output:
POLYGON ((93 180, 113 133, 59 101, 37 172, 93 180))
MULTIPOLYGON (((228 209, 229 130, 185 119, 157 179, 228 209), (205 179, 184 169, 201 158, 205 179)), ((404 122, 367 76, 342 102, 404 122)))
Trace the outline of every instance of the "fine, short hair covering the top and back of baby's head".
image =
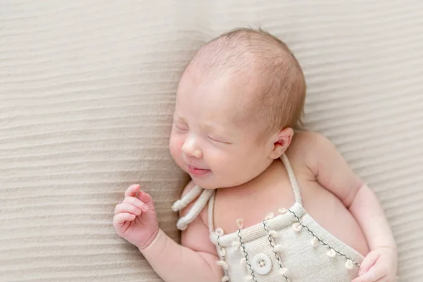
POLYGON ((265 133, 304 129, 305 77, 280 39, 261 28, 238 28, 212 39, 192 61, 201 57, 203 75, 246 70, 251 73, 247 79, 257 80, 257 93, 244 112, 264 123, 265 133))

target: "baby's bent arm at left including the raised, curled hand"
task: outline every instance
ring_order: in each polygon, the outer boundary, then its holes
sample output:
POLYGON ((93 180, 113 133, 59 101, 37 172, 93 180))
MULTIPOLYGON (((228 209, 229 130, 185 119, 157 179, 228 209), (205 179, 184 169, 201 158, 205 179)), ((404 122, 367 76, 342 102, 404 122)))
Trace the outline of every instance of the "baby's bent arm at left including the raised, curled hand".
POLYGON ((137 246, 164 281, 221 280, 216 248, 200 216, 182 233, 185 246, 179 245, 159 229, 152 197, 140 190, 140 185, 131 185, 123 202, 116 205, 113 223, 116 233, 137 246))

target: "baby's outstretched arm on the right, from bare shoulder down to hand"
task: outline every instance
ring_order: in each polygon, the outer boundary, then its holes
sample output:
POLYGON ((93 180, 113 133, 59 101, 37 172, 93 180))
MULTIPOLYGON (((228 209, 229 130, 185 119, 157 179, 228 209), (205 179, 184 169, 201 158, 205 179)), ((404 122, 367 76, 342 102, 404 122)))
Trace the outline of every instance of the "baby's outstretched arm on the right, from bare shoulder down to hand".
POLYGON ((393 276, 395 278, 397 267, 396 243, 376 196, 355 175, 329 140, 317 133, 305 134, 307 135, 308 147, 313 148, 312 154, 306 157, 307 166, 317 176, 317 181, 324 188, 333 192, 343 202, 345 207, 350 210, 360 224, 371 250, 360 267, 360 274, 369 271, 372 266, 375 267, 370 271, 371 273, 367 274, 369 280, 360 278, 357 281, 376 281, 376 279, 380 278, 380 275, 387 275, 389 278, 393 276), (379 256, 381 256, 381 252, 391 254, 388 255, 391 258, 381 257, 381 259, 386 259, 390 262, 383 261, 375 264, 379 256), (384 269, 388 267, 391 269, 384 269))

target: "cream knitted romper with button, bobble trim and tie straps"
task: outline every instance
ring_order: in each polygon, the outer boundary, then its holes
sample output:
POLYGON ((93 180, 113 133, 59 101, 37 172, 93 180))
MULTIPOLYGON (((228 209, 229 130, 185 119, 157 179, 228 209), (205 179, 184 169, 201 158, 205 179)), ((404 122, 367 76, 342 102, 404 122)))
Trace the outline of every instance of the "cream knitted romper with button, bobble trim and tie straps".
POLYGON ((288 171, 295 203, 262 222, 224 234, 214 229, 214 190, 193 188, 173 204, 178 211, 197 199, 177 227, 185 230, 208 203, 210 240, 216 245, 223 282, 350 282, 357 276, 364 257, 321 227, 302 207, 300 187, 286 155, 281 157, 288 171))

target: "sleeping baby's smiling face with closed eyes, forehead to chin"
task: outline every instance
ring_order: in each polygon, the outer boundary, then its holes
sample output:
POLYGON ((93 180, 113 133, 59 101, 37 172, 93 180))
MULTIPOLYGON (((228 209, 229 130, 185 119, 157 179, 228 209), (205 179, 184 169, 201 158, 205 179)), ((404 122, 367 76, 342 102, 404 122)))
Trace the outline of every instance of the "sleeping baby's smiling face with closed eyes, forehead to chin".
POLYGON ((257 125, 235 118, 245 109, 246 88, 233 78, 202 82, 188 71, 180 81, 169 147, 202 188, 247 183, 271 163, 269 145, 257 143, 257 125))

